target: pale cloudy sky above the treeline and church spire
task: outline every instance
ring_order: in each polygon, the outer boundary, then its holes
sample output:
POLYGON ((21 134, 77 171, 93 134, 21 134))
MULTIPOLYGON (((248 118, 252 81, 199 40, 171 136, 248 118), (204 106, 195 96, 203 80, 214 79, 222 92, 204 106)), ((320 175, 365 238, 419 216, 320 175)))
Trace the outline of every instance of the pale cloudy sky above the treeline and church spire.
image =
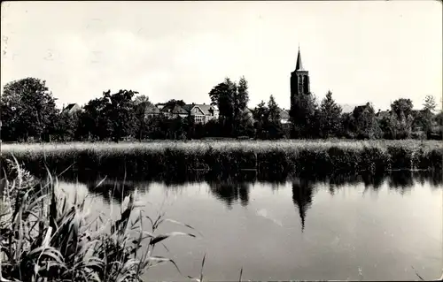
MULTIPOLYGON (((290 107, 300 48, 311 91, 385 110, 442 98, 441 1, 2 2, 1 84, 35 77, 58 106, 108 89, 210 103, 225 77, 250 107, 290 107)), ((441 107, 441 105, 439 105, 441 107)))

